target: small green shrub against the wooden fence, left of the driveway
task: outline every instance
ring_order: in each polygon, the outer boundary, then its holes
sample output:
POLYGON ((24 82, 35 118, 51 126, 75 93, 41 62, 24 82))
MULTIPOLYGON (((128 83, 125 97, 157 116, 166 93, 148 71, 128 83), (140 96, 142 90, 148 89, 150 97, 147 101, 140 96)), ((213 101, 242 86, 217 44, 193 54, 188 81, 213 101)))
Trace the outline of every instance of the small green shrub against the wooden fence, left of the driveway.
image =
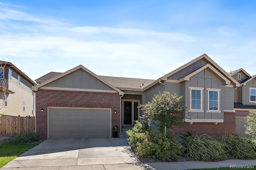
POLYGON ((23 134, 15 136, 13 143, 31 143, 40 141, 40 136, 32 131, 25 131, 23 134))

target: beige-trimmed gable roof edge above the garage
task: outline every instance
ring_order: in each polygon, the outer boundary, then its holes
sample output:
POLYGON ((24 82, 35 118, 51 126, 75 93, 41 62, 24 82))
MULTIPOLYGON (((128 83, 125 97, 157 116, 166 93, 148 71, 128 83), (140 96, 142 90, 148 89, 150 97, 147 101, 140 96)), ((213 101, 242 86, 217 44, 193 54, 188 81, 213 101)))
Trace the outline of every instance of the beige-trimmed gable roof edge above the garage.
MULTIPOLYGON (((119 95, 124 95, 124 92, 122 92, 121 90, 119 90, 118 88, 114 87, 112 84, 108 83, 108 81, 102 79, 100 76, 96 75, 95 73, 93 73, 92 71, 90 71, 89 69, 87 69, 86 67, 84 67, 83 65, 78 65, 77 67, 74 67, 64 73, 61 73, 59 75, 57 75, 58 73, 56 73, 55 77, 52 77, 51 79, 48 79, 47 81, 44 81, 43 83, 40 83, 39 85, 36 85, 35 87, 32 87, 33 91, 38 91, 38 88, 43 87, 44 85, 51 83, 52 81, 55 81, 61 77, 64 77, 65 75, 68 75, 69 73, 72 73, 78 69, 83 69, 84 71, 86 71, 87 73, 89 73, 90 75, 94 76, 96 79, 99 79, 100 81, 102 81, 103 83, 105 83, 106 85, 110 86, 112 89, 114 89, 115 91, 117 91, 119 93, 119 95)), ((48 76, 50 75, 54 75, 54 74, 48 74, 48 76)), ((47 79, 48 76, 42 76, 44 78, 47 79)), ((49 78, 49 77, 48 77, 49 78)))

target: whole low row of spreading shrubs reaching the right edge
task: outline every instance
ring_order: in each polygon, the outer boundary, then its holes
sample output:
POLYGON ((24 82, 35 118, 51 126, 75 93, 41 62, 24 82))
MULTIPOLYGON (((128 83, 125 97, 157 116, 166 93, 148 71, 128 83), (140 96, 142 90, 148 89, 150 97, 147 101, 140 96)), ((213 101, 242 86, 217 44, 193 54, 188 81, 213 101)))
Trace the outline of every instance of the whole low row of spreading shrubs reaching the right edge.
POLYGON ((226 159, 255 159, 254 140, 248 141, 238 135, 212 138, 207 135, 189 136, 182 145, 185 156, 198 161, 219 161, 226 159))

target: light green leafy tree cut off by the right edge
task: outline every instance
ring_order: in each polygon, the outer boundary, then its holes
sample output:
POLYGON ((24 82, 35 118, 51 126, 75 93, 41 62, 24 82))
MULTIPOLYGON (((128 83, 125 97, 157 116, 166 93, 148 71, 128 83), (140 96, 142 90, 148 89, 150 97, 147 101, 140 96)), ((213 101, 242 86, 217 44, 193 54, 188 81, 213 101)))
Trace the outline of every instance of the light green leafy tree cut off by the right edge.
POLYGON ((256 111, 250 111, 249 115, 246 116, 244 125, 246 128, 245 133, 256 137, 256 111))

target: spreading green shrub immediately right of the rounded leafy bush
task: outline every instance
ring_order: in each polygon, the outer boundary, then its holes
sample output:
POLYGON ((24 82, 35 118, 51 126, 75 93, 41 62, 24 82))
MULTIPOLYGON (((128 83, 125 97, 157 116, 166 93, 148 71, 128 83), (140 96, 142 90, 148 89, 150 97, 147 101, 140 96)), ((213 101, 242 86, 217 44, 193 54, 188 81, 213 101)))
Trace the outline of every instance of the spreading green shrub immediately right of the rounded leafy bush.
POLYGON ((185 156, 192 160, 218 161, 226 159, 224 145, 207 135, 187 137, 182 145, 186 148, 185 156))

